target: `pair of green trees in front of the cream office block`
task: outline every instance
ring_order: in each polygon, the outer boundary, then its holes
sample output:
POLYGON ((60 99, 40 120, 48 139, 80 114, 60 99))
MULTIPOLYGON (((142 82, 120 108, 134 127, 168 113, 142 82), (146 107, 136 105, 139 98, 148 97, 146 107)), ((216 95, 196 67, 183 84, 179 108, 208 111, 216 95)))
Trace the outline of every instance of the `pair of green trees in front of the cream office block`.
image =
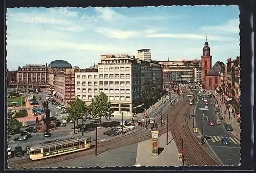
POLYGON ((111 109, 111 102, 108 99, 108 96, 100 92, 99 95, 92 99, 90 106, 87 106, 79 98, 76 98, 74 101, 69 103, 69 106, 66 108, 68 113, 67 120, 74 121, 74 132, 75 132, 75 123, 78 125, 78 119, 81 119, 82 122, 88 119, 99 118, 100 126, 102 118, 106 120, 114 117, 114 110, 111 109))

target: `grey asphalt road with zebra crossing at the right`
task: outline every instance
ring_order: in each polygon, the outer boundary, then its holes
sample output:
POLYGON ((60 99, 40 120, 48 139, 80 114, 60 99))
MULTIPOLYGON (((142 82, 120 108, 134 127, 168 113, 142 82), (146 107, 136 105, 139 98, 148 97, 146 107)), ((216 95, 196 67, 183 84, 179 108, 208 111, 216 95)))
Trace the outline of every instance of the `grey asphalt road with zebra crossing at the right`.
MULTIPOLYGON (((215 114, 214 105, 210 104, 210 98, 207 97, 209 101, 208 111, 206 111, 206 115, 208 115, 209 120, 216 120, 217 115, 215 114)), ((213 100, 213 98, 212 98, 213 100)), ((195 118, 196 124, 202 132, 202 112, 199 108, 204 108, 204 102, 202 100, 199 101, 198 106, 195 110, 195 118)), ((237 165, 240 163, 240 143, 239 140, 234 137, 230 132, 225 130, 223 125, 215 125, 210 126, 209 123, 204 120, 205 126, 205 135, 210 136, 211 139, 208 139, 207 142, 211 146, 211 149, 217 154, 219 159, 222 161, 224 165, 237 165), (224 146, 221 143, 221 137, 227 136, 230 140, 229 146, 224 146)), ((201 142, 201 136, 198 135, 198 139, 201 142)))

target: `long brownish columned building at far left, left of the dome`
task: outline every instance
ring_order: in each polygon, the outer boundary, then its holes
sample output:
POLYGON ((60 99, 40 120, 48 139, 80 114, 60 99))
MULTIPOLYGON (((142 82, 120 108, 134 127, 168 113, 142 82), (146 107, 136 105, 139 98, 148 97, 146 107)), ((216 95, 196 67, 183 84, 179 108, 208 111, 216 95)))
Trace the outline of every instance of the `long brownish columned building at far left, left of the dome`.
POLYGON ((18 87, 47 87, 47 64, 18 67, 18 87))

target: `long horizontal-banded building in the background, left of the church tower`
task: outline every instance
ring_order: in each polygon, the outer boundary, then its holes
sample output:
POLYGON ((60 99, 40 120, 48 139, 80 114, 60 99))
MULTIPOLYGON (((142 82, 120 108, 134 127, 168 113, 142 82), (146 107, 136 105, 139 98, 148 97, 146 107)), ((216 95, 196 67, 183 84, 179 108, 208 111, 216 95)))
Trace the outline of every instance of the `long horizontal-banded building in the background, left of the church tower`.
POLYGON ((159 61, 163 68, 163 79, 167 82, 201 82, 201 61, 159 61))

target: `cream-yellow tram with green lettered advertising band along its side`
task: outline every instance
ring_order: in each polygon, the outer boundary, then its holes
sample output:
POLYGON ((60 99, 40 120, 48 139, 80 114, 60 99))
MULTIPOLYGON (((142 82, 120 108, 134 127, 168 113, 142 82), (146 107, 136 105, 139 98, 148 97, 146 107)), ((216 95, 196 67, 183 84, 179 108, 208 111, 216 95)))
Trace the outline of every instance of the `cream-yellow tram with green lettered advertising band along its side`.
POLYGON ((31 160, 45 159, 91 148, 91 137, 73 136, 39 143, 29 149, 31 160))

